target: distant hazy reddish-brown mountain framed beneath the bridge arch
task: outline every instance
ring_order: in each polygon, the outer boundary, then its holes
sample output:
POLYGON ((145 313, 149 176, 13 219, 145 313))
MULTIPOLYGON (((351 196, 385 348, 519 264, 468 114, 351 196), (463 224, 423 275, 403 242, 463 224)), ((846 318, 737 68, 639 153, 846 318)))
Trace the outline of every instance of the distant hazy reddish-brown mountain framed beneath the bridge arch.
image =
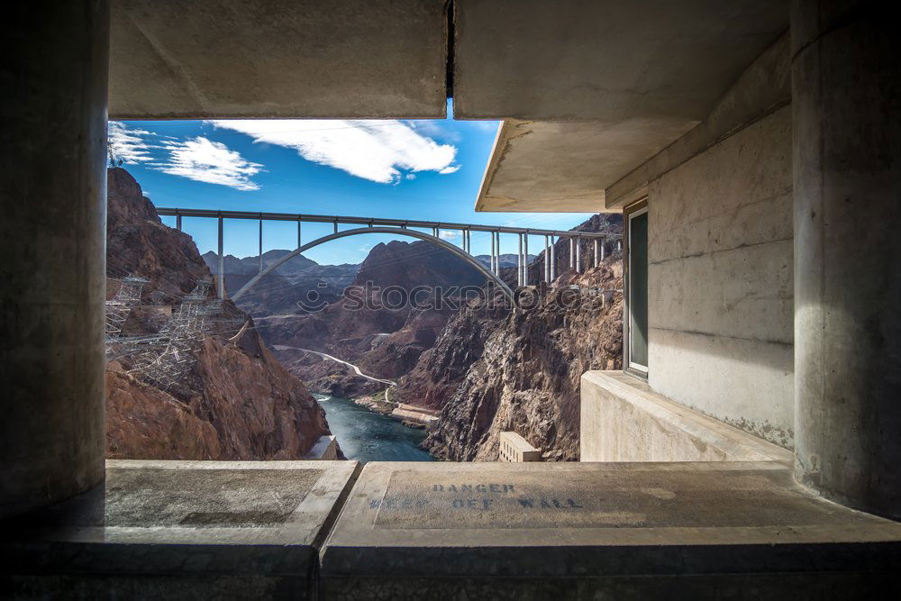
POLYGON ((455 296, 457 287, 484 283, 478 269, 428 242, 390 241, 369 251, 338 302, 318 313, 257 314, 256 319, 279 359, 314 390, 357 396, 384 385, 296 349, 323 351, 377 378, 397 378, 432 347, 454 312, 450 305, 417 308, 404 302, 405 294, 424 286, 455 296))

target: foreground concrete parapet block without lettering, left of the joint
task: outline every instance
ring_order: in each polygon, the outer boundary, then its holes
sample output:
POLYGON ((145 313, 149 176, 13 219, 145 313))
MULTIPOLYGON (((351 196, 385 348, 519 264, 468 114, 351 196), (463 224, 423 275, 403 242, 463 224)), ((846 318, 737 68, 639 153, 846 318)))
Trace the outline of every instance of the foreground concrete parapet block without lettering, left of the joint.
POLYGON ((108 460, 94 495, 4 524, 0 596, 306 598, 358 470, 108 460))

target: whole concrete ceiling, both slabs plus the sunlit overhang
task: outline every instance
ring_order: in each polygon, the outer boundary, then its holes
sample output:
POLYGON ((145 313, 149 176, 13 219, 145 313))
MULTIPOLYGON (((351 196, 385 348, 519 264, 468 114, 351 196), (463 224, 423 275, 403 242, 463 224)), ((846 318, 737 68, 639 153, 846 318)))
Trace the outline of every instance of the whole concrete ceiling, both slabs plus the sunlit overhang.
MULTIPOLYGON (((113 0, 110 115, 441 118, 445 0, 113 0)), ((787 27, 787 0, 454 0, 480 211, 599 211, 787 27)))

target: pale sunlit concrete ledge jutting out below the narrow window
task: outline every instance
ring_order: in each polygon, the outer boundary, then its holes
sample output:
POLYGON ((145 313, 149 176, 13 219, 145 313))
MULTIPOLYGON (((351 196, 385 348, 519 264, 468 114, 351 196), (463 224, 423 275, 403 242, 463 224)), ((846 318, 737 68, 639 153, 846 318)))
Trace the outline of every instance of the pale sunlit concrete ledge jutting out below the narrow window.
POLYGON ((586 372, 581 400, 582 461, 794 461, 791 451, 670 401, 622 371, 586 372))

